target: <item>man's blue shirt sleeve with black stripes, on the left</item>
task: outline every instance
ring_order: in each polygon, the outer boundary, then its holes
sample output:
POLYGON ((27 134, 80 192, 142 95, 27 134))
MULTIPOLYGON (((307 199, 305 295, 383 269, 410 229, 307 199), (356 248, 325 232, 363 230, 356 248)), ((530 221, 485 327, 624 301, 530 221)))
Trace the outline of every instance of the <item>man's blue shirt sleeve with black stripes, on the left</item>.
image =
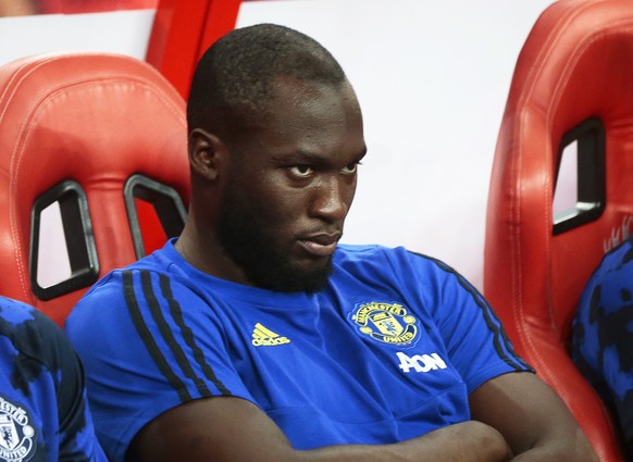
POLYGON ((112 461, 169 409, 213 396, 253 401, 208 304, 164 274, 112 273, 75 307, 66 333, 86 364, 97 434, 112 461))

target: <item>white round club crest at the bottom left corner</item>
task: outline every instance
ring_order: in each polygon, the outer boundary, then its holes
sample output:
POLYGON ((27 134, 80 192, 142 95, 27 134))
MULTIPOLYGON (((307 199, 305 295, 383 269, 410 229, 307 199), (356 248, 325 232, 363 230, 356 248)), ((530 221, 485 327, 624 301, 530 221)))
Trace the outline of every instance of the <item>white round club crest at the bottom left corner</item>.
POLYGON ((23 408, 0 396, 0 461, 26 462, 35 454, 35 429, 23 408))

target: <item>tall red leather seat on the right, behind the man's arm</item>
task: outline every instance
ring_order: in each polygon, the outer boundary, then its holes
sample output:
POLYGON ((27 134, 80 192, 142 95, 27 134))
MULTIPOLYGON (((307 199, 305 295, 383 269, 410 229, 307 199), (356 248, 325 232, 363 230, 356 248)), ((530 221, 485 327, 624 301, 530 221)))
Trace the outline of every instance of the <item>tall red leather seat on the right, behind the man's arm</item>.
POLYGON ((613 423, 570 360, 569 345, 591 273, 633 232, 632 179, 633 2, 555 2, 520 53, 501 123, 484 294, 517 350, 567 402, 604 462, 624 459, 613 423), (578 193, 554 216, 567 146, 578 150, 578 193))

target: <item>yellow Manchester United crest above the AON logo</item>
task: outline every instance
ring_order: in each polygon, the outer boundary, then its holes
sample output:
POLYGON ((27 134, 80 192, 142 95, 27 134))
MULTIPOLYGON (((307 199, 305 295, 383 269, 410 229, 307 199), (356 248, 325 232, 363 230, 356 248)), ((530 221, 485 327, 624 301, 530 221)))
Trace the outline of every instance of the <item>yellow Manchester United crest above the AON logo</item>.
POLYGON ((355 309, 351 320, 362 334, 389 345, 410 345, 418 336, 415 317, 399 303, 361 304, 355 309))

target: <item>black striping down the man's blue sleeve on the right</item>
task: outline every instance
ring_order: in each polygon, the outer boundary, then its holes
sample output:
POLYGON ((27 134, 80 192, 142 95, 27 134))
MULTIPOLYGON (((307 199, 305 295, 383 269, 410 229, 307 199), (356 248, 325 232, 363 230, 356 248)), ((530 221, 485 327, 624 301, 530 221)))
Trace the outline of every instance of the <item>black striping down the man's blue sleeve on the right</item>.
POLYGON ((434 262, 437 266, 442 270, 446 271, 447 273, 452 274, 459 285, 463 287, 473 298, 476 305, 481 309, 482 314, 484 316, 484 321, 488 329, 493 333, 493 346, 495 351, 499 355, 499 358, 509 366, 513 367, 517 371, 534 371, 530 364, 528 364, 521 357, 517 354, 512 344, 510 342, 509 338, 507 337, 500 320, 494 313, 491 305, 484 300, 481 294, 470 284, 468 283, 462 275, 460 275, 457 271, 455 271, 451 266, 447 265, 446 263, 442 262, 440 260, 434 259, 432 257, 422 255, 417 252, 411 252, 414 255, 418 255, 423 259, 427 259, 434 262))

